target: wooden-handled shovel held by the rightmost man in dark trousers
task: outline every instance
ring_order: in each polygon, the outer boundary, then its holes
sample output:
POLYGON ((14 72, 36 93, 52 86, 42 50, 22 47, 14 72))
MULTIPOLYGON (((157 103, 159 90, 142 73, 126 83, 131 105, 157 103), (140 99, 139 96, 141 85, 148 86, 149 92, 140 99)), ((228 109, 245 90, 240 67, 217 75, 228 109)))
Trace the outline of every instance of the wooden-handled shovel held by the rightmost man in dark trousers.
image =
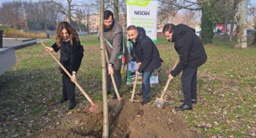
MULTIPOLYGON (((179 58, 177 58, 174 66, 172 67, 172 70, 174 70, 176 68, 176 66, 178 65, 179 63, 179 58)), ((166 93, 166 90, 169 86, 169 83, 170 83, 171 79, 168 78, 166 84, 165 84, 165 87, 164 87, 164 90, 162 91, 162 94, 161 94, 161 97, 160 98, 156 98, 156 101, 155 101, 155 104, 157 105, 158 108, 163 108, 163 105, 164 105, 164 95, 166 93)))

